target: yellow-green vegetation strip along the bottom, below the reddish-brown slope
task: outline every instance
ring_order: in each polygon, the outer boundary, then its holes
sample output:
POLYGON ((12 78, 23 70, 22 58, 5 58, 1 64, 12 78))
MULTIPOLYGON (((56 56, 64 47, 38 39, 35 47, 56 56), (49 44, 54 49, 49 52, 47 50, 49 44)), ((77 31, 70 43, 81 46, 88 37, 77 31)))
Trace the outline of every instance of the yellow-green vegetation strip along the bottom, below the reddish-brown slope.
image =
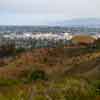
POLYGON ((96 100, 98 94, 86 80, 71 77, 2 88, 0 100, 96 100))

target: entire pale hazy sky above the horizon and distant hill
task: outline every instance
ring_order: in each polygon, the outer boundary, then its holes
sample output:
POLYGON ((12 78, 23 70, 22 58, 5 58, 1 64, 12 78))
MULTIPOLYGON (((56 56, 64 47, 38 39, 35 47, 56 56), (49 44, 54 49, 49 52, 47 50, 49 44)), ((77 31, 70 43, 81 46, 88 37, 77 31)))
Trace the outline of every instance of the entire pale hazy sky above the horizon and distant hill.
POLYGON ((100 0, 0 0, 0 25, 100 18, 100 0))

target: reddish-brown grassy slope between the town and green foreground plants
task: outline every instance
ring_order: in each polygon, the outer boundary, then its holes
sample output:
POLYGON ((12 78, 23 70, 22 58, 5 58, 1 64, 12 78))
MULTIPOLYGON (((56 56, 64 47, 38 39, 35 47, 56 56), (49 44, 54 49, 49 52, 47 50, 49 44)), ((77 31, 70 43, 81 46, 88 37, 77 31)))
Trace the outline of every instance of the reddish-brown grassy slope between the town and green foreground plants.
MULTIPOLYGON (((8 65, 0 68, 0 77, 19 76, 25 70, 41 69, 46 73, 66 73, 70 75, 94 73, 99 69, 99 51, 87 49, 39 49, 22 53, 8 65), (78 50, 79 49, 79 50, 78 50)), ((99 70, 98 70, 99 71, 99 70)), ((97 77, 94 77, 97 78, 97 77)))

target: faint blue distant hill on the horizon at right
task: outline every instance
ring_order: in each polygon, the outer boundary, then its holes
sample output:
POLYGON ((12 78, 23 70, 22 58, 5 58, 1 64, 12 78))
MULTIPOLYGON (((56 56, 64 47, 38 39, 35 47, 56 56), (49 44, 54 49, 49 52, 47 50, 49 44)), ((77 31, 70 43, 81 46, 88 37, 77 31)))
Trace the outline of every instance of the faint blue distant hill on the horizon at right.
POLYGON ((67 27, 92 27, 100 28, 100 19, 87 18, 87 19, 72 19, 54 22, 52 26, 67 26, 67 27))

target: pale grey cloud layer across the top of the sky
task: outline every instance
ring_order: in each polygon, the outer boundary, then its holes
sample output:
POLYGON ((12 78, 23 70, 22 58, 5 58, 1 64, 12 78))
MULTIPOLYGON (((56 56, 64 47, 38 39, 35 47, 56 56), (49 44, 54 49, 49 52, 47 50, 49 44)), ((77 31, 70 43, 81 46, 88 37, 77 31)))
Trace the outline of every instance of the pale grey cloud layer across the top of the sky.
POLYGON ((0 9, 17 13, 97 15, 100 0, 0 0, 0 9))

